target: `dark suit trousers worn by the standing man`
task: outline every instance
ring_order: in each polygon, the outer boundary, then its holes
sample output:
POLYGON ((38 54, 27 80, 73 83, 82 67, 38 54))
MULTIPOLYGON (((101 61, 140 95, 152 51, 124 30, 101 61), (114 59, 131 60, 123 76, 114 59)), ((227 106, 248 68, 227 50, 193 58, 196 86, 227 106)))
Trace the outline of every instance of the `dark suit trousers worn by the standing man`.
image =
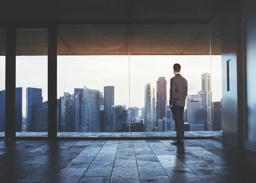
POLYGON ((184 138, 184 131, 185 131, 185 125, 184 125, 184 107, 180 106, 172 106, 172 116, 175 121, 175 127, 177 132, 177 141, 181 141, 184 138))

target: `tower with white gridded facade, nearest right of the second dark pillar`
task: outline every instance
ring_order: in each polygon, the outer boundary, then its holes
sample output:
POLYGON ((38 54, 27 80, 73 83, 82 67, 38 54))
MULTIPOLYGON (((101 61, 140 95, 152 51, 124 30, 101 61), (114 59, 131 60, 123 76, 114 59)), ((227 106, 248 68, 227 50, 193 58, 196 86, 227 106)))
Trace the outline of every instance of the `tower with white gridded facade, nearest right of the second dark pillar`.
POLYGON ((65 92, 61 97, 61 132, 74 132, 74 96, 65 92))

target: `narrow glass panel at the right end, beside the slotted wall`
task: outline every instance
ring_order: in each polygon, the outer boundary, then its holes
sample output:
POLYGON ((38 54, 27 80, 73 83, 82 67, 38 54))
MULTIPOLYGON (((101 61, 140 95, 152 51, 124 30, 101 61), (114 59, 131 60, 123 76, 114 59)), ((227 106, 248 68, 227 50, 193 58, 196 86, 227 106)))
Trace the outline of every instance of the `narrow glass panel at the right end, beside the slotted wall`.
POLYGON ((222 137, 222 72, 221 72, 221 31, 218 23, 212 23, 210 30, 211 87, 212 87, 212 136, 222 137))

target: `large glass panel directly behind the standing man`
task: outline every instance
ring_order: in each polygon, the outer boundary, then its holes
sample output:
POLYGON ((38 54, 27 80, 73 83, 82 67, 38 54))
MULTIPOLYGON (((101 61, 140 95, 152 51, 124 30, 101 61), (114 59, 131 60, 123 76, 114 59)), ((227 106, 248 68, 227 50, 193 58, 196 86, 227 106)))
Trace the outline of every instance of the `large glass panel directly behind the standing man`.
POLYGON ((176 136, 169 89, 175 76, 173 65, 178 63, 180 74, 188 81, 183 111, 185 136, 212 135, 209 30, 209 25, 130 27, 130 100, 131 107, 141 109, 130 120, 143 121, 144 132, 176 136))

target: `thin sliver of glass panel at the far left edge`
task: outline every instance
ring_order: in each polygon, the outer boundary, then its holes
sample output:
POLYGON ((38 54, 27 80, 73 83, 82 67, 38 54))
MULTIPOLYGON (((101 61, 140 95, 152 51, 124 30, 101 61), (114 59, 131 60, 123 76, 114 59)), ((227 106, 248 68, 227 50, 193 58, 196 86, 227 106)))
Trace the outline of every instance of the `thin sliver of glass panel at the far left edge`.
POLYGON ((5 136, 5 43, 6 31, 0 30, 0 137, 5 136))

